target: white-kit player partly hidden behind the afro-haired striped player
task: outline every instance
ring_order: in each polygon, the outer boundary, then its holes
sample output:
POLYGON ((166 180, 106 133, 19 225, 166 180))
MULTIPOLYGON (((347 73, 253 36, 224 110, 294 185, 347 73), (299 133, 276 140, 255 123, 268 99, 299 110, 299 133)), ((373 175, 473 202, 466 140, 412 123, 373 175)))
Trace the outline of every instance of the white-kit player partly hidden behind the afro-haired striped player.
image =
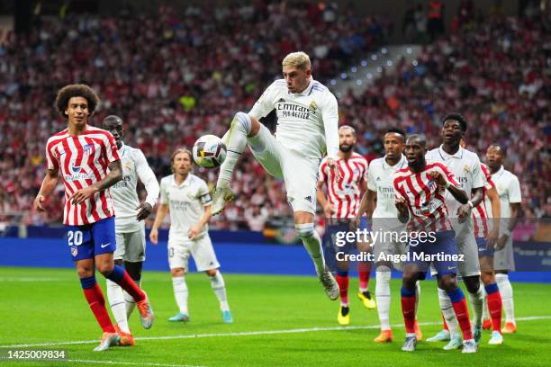
MULTIPOLYGON (((122 119, 115 115, 104 118, 104 130, 111 132, 122 164, 122 180, 111 186, 111 195, 115 208, 116 249, 113 254, 115 264, 122 265, 132 280, 140 286, 141 268, 145 260, 145 225, 143 220, 149 217, 158 199, 157 177, 148 165, 140 149, 125 145, 122 141, 124 130, 122 119), (140 202, 136 186, 138 179, 144 184, 148 196, 140 202)), ((107 299, 116 320, 115 329, 121 338, 121 345, 134 345, 134 339, 128 326, 128 318, 136 306, 135 300, 119 284, 107 282, 107 299)))

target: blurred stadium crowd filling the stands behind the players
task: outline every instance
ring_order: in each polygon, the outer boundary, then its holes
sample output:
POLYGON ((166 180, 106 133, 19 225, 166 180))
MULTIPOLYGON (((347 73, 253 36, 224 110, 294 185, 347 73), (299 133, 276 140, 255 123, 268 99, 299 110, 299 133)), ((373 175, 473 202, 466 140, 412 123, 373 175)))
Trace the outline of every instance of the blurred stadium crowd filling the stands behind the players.
MULTIPOLYGON (((286 53, 307 51, 314 76, 326 82, 392 30, 387 17, 361 17, 331 4, 256 1, 214 11, 190 6, 184 14, 165 6, 155 17, 69 16, 41 22, 25 37, 11 35, 0 46, 0 223, 61 221, 61 185, 45 214, 31 208, 45 168, 44 143, 65 127, 52 107, 62 85, 91 85, 102 98, 92 123, 121 116, 125 141, 144 151, 160 179, 170 173, 174 148, 191 148, 205 133, 221 136, 235 112, 248 111, 280 76, 286 53)), ((340 123, 357 128, 357 149, 372 159, 382 154, 380 138, 389 126, 426 133, 432 147, 440 118, 463 112, 469 148, 482 155, 498 141, 508 149, 524 215, 550 217, 546 34, 542 22, 500 14, 457 22, 424 46, 416 65, 402 62, 364 94, 343 95, 340 123)), ((195 171, 215 183, 216 171, 195 171)), ((282 185, 244 155, 233 185, 237 200, 212 226, 261 230, 268 220, 290 217, 282 185)))

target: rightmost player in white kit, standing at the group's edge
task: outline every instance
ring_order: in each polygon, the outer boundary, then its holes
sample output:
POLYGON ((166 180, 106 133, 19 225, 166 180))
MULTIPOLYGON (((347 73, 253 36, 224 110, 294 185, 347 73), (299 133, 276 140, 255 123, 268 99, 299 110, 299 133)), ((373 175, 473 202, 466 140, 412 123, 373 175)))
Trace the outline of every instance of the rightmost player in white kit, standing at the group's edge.
POLYGON ((493 254, 493 268, 505 310, 505 326, 502 333, 511 334, 517 331, 513 291, 509 281, 509 271, 515 270, 511 234, 519 220, 522 198, 519 178, 503 166, 505 157, 505 149, 498 144, 492 144, 486 151, 486 163, 501 201, 500 237, 493 254))

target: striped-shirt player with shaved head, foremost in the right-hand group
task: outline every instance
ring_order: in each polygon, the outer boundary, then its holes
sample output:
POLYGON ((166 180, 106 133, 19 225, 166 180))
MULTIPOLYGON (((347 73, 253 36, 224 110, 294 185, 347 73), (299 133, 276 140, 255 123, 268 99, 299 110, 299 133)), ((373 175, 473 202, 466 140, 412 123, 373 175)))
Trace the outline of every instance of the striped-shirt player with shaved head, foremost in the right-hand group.
POLYGON ((426 140, 411 135, 406 140, 405 155, 408 166, 394 173, 394 192, 398 219, 407 223, 410 233, 409 260, 403 266, 402 314, 406 327, 406 339, 402 351, 413 352, 415 337, 415 283, 432 264, 437 271, 438 288, 446 291, 451 307, 463 331, 463 353, 475 353, 476 344, 471 331, 469 311, 465 296, 457 286, 456 234, 448 219, 446 192, 456 201, 465 204, 466 192, 459 187, 455 176, 440 162, 429 163, 425 159, 426 140), (424 234, 424 236, 422 236, 424 234), (414 241, 415 240, 415 241, 414 241), (419 258, 418 256, 422 256, 419 258), (429 259, 427 259, 429 255, 429 259))

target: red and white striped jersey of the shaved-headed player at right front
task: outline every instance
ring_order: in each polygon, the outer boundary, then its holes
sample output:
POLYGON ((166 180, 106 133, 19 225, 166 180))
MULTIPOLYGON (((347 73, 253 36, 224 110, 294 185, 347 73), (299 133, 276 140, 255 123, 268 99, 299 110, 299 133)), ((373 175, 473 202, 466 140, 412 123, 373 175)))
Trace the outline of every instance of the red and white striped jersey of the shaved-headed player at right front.
POLYGON ((410 167, 394 173, 396 199, 405 199, 410 209, 410 231, 439 232, 452 229, 447 219, 446 188, 438 186, 429 176, 433 171, 444 175, 449 183, 458 185, 454 174, 440 162, 427 164, 419 173, 411 172, 410 167))

